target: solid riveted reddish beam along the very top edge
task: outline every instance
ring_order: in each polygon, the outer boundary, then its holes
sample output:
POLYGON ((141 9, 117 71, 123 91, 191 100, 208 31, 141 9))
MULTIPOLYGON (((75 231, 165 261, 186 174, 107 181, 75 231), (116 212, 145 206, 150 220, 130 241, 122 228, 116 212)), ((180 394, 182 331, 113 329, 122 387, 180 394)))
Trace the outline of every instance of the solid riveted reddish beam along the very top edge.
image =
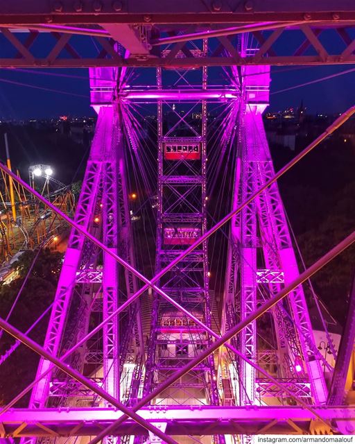
POLYGON ((62 23, 233 23, 260 20, 285 21, 352 19, 355 16, 352 0, 140 0, 91 1, 74 0, 3 2, 1 22, 6 24, 62 23))

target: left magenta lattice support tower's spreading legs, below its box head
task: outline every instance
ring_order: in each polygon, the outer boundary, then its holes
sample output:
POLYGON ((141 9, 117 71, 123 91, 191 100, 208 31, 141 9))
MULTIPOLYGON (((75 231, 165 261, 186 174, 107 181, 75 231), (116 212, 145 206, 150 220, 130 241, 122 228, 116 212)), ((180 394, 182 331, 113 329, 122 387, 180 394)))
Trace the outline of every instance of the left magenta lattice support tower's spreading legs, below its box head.
MULTIPOLYGON (((103 239, 110 251, 115 254, 119 251, 121 257, 134 265, 121 116, 115 103, 96 110, 96 133, 75 221, 103 239)), ((137 288, 135 275, 124 270, 120 281, 119 266, 112 256, 107 252, 101 255, 83 234, 72 230, 44 348, 53 355, 71 348, 87 334, 90 320, 97 323, 97 319, 110 316, 137 288), (119 288, 120 282, 125 282, 124 289, 119 288)), ((131 305, 123 317, 122 323, 119 317, 112 318, 102 335, 95 336, 91 345, 87 343, 73 354, 70 364, 102 385, 107 393, 126 402, 135 393, 132 385, 141 370, 144 353, 139 302, 131 305)), ((41 359, 37 376, 49 365, 49 361, 41 359)), ((69 383, 58 372, 42 378, 33 388, 30 401, 31 408, 76 404, 107 406, 94 393, 78 383, 69 383)))

